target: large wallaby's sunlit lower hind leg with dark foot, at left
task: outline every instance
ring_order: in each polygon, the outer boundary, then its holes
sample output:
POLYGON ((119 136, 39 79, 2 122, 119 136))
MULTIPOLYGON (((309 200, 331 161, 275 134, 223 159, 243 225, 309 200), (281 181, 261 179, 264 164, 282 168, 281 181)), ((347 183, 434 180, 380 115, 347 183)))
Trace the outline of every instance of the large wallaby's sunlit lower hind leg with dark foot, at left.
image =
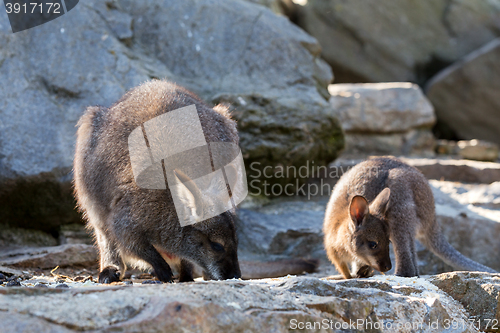
POLYGON ((106 236, 99 228, 94 228, 99 246, 99 283, 112 283, 120 281, 119 267, 122 268, 122 273, 125 273, 123 261, 118 253, 115 244, 106 236))

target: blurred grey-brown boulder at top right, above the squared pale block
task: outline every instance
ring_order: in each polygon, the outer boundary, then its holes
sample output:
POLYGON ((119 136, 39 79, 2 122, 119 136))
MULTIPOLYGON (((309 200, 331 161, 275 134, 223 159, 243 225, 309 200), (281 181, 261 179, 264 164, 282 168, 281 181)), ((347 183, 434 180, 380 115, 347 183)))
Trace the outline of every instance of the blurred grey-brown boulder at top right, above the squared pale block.
POLYGON ((309 0, 301 9, 299 24, 340 82, 422 82, 500 35, 498 0, 309 0))

